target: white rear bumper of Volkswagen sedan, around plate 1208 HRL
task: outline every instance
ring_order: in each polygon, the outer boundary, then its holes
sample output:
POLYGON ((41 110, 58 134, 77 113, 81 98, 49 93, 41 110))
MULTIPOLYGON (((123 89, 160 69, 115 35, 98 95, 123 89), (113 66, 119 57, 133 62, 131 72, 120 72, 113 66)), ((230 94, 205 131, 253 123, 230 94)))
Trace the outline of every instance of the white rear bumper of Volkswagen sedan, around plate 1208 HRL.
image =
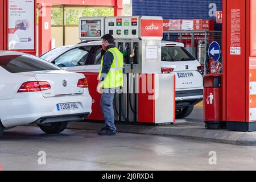
POLYGON ((40 118, 48 123, 60 122, 60 119, 79 121, 82 116, 88 116, 91 112, 92 98, 88 91, 80 96, 48 98, 43 97, 40 92, 19 93, 10 100, 1 100, 0 103, 0 119, 5 127, 27 125, 39 121, 40 118), (79 109, 57 110, 57 104, 70 102, 77 102, 80 105, 79 109))

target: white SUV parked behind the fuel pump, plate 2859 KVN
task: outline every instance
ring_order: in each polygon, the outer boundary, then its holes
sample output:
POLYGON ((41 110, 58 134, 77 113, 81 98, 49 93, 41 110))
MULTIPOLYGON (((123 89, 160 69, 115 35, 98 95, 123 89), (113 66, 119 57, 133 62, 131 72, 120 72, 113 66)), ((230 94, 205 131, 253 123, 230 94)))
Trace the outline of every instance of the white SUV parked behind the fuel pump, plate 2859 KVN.
MULTIPOLYGON (((62 69, 74 72, 98 72, 101 41, 81 42, 74 46, 52 49, 41 56, 62 69)), ((176 76, 176 118, 191 114, 193 106, 203 100, 201 65, 184 44, 162 41, 162 72, 176 76)))

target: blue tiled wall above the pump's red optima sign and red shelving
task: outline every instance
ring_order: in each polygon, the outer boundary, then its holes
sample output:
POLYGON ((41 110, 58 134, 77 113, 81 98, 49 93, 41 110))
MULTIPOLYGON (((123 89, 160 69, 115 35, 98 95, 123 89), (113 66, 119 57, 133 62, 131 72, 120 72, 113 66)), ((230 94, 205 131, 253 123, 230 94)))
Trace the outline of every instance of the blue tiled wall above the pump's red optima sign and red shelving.
POLYGON ((163 19, 214 19, 222 10, 222 0, 133 0, 133 15, 162 16, 163 19))

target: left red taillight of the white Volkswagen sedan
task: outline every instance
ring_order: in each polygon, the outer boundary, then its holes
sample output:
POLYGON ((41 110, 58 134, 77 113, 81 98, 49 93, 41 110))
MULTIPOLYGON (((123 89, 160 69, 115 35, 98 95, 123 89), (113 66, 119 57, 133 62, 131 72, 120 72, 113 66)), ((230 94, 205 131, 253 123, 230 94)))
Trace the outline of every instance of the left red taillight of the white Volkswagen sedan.
POLYGON ((20 92, 40 92, 43 90, 51 89, 51 85, 47 81, 28 81, 24 82, 19 90, 20 92))

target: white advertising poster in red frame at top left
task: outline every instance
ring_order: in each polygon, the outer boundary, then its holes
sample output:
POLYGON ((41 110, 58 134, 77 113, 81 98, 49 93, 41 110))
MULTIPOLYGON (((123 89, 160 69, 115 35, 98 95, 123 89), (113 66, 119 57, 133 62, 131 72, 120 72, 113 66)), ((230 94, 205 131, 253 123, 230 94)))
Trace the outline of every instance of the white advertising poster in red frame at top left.
POLYGON ((9 50, 35 49, 35 1, 9 0, 9 50))

